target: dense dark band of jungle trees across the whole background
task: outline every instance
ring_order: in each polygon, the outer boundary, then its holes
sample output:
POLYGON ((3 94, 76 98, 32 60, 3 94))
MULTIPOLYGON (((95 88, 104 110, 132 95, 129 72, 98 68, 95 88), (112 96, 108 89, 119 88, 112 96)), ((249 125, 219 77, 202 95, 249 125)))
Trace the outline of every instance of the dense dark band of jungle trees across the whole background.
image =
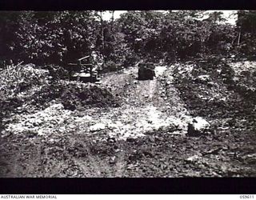
POLYGON ((254 53, 255 11, 238 12, 238 26, 223 23, 222 12, 202 18, 203 10, 128 11, 110 21, 103 12, 1 12, 0 57, 62 65, 96 54, 103 69, 117 70, 139 60, 254 53))

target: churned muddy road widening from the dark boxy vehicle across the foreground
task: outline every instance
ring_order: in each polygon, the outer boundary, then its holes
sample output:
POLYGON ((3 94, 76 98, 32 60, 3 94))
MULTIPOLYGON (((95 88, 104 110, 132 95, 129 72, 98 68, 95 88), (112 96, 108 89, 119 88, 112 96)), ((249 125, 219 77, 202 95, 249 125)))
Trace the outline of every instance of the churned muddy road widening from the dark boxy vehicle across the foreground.
POLYGON ((1 177, 254 176, 255 163, 238 159, 232 135, 186 135, 192 115, 174 69, 157 66, 156 78, 146 81, 137 80, 135 67, 105 74, 102 86, 119 107, 71 111, 52 102, 35 114, 10 116, 1 137, 1 177))

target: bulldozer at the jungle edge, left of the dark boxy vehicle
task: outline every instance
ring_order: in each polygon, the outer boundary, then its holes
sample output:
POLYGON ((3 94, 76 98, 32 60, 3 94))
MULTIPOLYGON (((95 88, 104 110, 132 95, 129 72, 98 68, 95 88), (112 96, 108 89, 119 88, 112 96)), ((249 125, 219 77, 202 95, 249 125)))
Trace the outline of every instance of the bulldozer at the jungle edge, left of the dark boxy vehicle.
POLYGON ((98 67, 91 64, 90 55, 79 58, 76 63, 68 63, 70 69, 70 81, 94 82, 99 84, 98 67))

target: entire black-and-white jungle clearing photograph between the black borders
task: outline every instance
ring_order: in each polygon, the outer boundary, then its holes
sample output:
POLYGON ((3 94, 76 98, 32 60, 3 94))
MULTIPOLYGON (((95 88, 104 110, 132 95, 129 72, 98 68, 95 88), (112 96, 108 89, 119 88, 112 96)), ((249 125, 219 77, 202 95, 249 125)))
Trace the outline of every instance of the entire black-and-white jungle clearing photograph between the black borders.
POLYGON ((255 10, 1 10, 0 178, 256 176, 255 10))

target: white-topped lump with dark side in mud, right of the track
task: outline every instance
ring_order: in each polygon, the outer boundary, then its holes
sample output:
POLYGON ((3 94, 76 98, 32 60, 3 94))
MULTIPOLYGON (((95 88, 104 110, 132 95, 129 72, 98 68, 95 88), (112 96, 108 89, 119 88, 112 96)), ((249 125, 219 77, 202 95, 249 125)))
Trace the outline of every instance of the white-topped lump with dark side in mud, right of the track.
POLYGON ((192 122, 188 124, 187 134, 189 136, 200 136, 206 134, 210 129, 210 123, 204 118, 193 118, 192 122))

